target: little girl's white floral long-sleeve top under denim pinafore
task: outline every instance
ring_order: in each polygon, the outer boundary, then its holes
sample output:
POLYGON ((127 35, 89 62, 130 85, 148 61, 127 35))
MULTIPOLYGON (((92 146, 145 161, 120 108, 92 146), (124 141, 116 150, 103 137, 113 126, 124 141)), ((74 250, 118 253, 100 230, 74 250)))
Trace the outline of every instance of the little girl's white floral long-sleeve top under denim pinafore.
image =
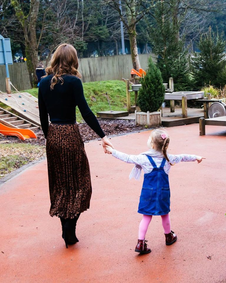
MULTIPOLYGON (((150 163, 149 159, 147 158, 147 155, 145 154, 131 155, 113 149, 112 156, 126 163, 133 163, 140 165, 144 170, 144 173, 150 173, 153 170, 153 166, 150 163)), ((179 163, 179 162, 195 161, 197 158, 196 155, 191 155, 191 154, 177 154, 177 155, 168 154, 168 157, 171 164, 179 163)), ((162 163, 163 157, 152 157, 152 159, 154 160, 156 166, 159 167, 162 163)), ((170 163, 166 161, 163 167, 167 175, 169 174, 170 171, 170 167, 171 167, 170 163)))

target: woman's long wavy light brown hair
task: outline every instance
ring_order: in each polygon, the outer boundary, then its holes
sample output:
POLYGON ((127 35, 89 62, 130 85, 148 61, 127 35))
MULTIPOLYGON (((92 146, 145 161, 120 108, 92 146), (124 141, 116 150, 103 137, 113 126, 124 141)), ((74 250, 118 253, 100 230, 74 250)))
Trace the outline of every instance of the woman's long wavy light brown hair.
POLYGON ((81 75, 78 67, 79 62, 75 48, 67 43, 59 45, 51 58, 51 66, 46 68, 46 76, 53 74, 50 85, 51 90, 59 81, 62 82, 61 84, 64 83, 63 78, 61 78, 63 74, 74 75, 80 78, 81 75))

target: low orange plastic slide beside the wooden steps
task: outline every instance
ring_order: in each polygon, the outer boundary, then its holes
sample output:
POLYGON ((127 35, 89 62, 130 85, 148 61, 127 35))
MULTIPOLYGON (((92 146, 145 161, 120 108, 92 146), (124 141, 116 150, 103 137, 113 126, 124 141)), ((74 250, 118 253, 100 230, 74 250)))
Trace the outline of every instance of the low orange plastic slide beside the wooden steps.
POLYGON ((5 136, 17 136, 19 139, 22 139, 23 141, 29 138, 37 139, 36 134, 32 130, 11 128, 1 123, 0 123, 0 133, 5 136))

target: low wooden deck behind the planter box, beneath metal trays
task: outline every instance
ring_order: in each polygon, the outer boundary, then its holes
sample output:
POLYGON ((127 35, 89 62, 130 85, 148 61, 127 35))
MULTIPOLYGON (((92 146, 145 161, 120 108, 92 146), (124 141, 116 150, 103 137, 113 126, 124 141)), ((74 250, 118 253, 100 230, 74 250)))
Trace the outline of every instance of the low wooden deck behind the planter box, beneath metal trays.
MULTIPOLYGON (((162 109, 162 126, 173 127, 186 124, 199 123, 199 119, 204 117, 203 109, 187 108, 187 118, 182 118, 182 108, 175 108, 175 112, 171 113, 170 108, 162 109)), ((109 119, 109 118, 102 118, 109 119)), ((135 114, 130 113, 126 117, 110 118, 110 119, 122 119, 122 120, 134 120, 135 114)))

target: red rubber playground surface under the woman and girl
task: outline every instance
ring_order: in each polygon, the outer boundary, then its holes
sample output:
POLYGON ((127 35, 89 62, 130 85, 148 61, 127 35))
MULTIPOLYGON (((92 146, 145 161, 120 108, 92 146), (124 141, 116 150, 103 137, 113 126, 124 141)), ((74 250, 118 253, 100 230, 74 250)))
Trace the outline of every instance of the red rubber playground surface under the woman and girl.
MULTIPOLYGON (((0 187, 3 283, 224 283, 226 282, 226 129, 198 124, 167 129, 170 153, 207 159, 172 167, 171 223, 178 240, 164 243, 161 218, 146 239, 152 252, 134 252, 141 215, 142 180, 129 181, 133 165, 104 154, 99 141, 85 144, 91 167, 90 209, 79 218, 79 243, 65 248, 59 218, 49 216, 46 160, 0 187)), ((145 151, 149 131, 111 139, 127 153, 145 151)))

